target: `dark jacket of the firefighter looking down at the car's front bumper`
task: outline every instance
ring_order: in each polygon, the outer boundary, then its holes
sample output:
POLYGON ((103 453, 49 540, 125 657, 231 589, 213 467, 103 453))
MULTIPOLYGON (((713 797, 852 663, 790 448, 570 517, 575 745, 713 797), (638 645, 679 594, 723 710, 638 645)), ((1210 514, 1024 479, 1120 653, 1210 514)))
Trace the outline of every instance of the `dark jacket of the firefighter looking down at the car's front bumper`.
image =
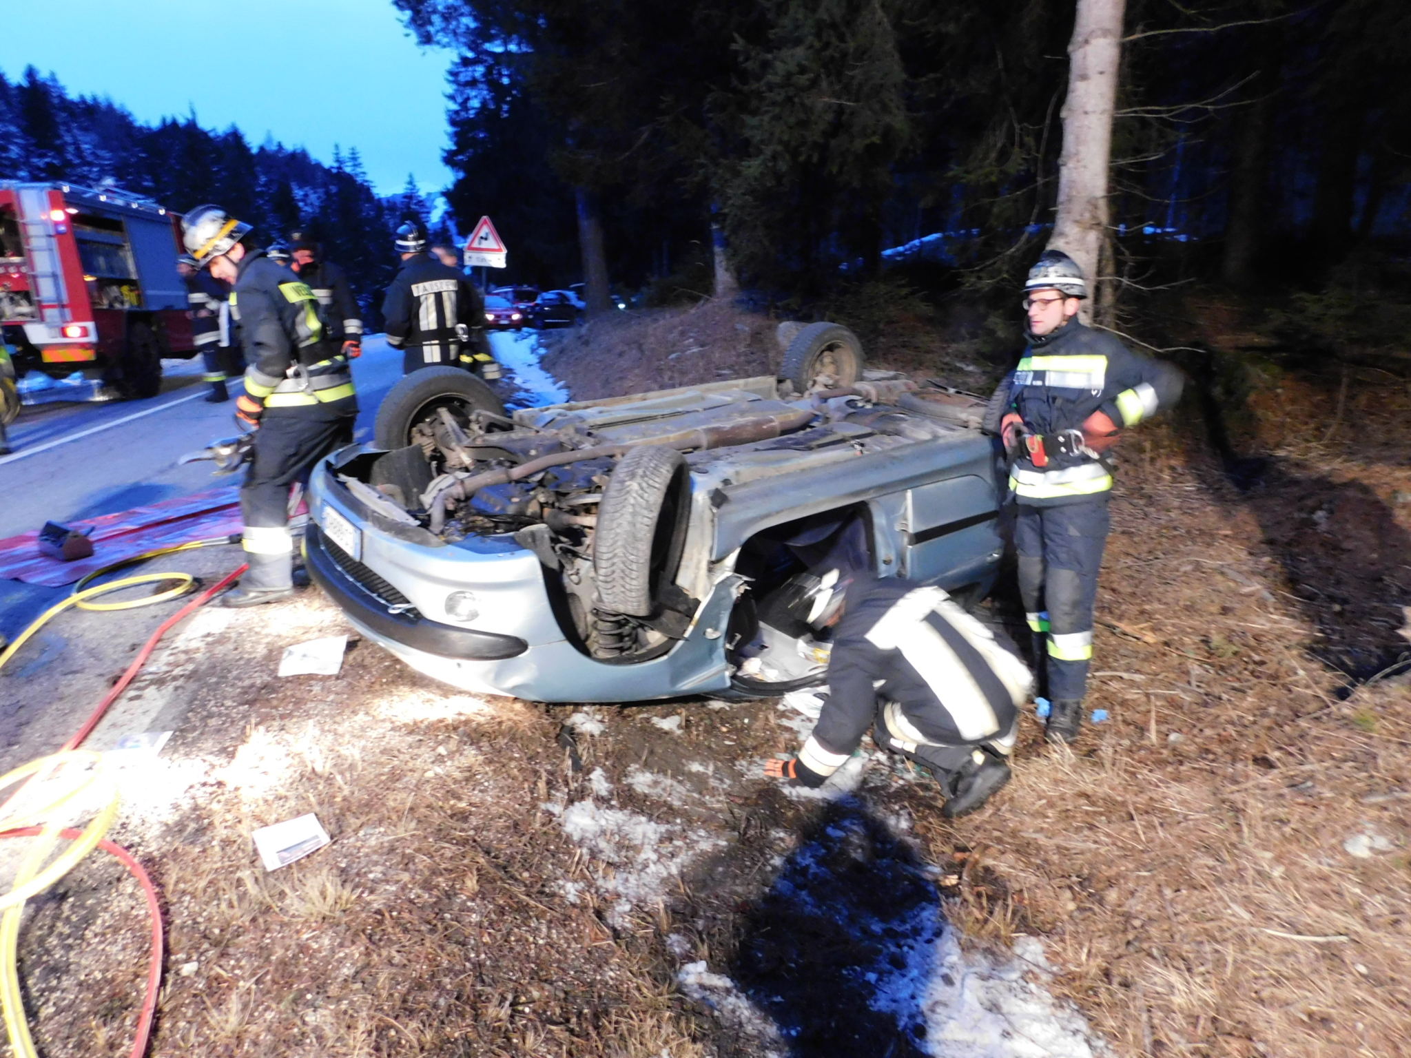
POLYGON ((325 337, 319 302, 292 271, 262 250, 246 254, 230 312, 248 364, 246 394, 267 409, 357 411, 349 361, 325 337))

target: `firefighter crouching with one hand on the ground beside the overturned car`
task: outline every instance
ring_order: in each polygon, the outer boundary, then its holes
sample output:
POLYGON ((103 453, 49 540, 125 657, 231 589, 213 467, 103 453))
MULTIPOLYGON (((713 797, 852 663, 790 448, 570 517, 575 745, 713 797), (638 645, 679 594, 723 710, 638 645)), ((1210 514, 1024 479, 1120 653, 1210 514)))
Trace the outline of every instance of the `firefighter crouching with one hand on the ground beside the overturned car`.
POLYGON ((799 755, 768 762, 765 774, 823 786, 872 725, 878 746, 941 784, 950 818, 1009 782, 1033 676, 993 631, 941 588, 900 578, 804 573, 783 594, 780 605, 799 621, 834 628, 830 693, 799 755))

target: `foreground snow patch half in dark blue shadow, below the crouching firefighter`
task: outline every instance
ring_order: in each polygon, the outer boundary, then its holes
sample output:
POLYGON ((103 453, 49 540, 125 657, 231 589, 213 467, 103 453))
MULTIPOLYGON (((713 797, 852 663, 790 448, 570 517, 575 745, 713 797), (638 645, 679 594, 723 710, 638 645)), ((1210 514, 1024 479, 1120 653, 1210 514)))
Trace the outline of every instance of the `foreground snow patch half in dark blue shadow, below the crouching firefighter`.
POLYGON ((838 1014, 852 1026, 882 1017, 935 1058, 1105 1054, 1082 1016, 1048 993, 1053 968, 1036 938, 999 955, 961 949, 937 869, 896 822, 856 798, 835 803, 782 863, 744 924, 734 963, 686 962, 682 990, 751 1033, 761 1050, 780 1038, 801 1042, 820 1031, 820 1019, 838 1014))

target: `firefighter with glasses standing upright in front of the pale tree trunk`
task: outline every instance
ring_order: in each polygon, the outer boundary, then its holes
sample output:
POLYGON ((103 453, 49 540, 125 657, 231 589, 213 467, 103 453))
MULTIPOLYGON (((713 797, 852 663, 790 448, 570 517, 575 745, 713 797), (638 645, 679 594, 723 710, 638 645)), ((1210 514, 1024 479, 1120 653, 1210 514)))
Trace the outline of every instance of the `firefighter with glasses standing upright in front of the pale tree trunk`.
POLYGON ((1029 347, 996 394, 1009 456, 1019 591, 1048 698, 1046 736, 1072 742, 1092 659, 1092 605, 1108 539, 1109 450, 1181 396, 1181 372, 1078 322, 1082 269, 1048 250, 1029 271, 1029 347))

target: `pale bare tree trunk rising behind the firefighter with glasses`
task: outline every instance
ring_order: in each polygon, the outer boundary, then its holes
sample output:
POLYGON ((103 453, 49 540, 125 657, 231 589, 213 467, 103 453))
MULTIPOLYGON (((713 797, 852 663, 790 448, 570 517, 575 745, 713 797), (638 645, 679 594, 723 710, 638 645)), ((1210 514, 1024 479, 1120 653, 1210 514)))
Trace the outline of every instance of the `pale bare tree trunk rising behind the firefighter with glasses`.
MULTIPOLYGON (((1088 278, 1089 293, 1096 293, 1101 282, 1110 282, 1099 276, 1098 262, 1108 229, 1108 166, 1125 4, 1126 0, 1078 0, 1068 44, 1058 216, 1048 245, 1078 262, 1088 278)), ((1092 298, 1084 302, 1085 323, 1091 319, 1092 303, 1092 298)))

